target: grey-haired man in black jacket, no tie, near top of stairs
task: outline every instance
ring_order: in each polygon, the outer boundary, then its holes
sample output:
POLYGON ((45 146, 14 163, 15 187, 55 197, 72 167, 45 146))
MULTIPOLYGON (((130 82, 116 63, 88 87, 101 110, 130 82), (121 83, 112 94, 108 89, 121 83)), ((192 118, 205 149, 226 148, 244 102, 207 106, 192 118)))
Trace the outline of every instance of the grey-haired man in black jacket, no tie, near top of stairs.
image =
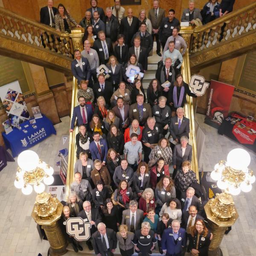
POLYGON ((112 9, 110 7, 106 8, 106 16, 103 18, 103 22, 105 23, 106 37, 110 38, 114 44, 119 35, 120 25, 117 18, 112 14, 112 9))

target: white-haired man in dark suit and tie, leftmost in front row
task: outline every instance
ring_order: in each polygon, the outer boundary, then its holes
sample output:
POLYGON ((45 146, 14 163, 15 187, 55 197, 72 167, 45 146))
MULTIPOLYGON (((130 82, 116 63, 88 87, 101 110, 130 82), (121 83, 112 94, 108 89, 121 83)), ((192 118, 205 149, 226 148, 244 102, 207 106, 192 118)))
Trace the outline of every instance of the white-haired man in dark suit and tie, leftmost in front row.
POLYGON ((103 222, 97 225, 98 231, 93 233, 93 249, 97 256, 113 256, 116 250, 116 232, 110 228, 106 228, 103 222))

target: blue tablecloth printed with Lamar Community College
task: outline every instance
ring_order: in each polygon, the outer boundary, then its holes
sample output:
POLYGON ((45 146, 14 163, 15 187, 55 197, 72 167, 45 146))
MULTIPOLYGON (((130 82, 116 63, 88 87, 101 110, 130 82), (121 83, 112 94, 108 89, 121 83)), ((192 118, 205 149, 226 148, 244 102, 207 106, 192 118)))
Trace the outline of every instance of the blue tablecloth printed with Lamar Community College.
POLYGON ((29 121, 23 122, 21 130, 13 128, 9 134, 2 133, 6 148, 11 148, 12 156, 16 157, 20 152, 31 148, 35 144, 49 137, 51 134, 56 134, 56 130, 52 122, 43 115, 42 118, 35 119, 37 128, 33 128, 29 121), (28 127, 24 127, 29 125, 28 127), (28 131, 24 133, 22 130, 28 131))

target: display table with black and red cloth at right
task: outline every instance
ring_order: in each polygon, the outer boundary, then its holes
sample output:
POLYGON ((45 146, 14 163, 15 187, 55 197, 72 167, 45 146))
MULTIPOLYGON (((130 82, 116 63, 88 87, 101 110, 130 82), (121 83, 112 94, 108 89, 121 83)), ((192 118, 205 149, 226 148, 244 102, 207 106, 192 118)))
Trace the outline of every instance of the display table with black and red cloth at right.
POLYGON ((256 152, 256 122, 233 112, 223 120, 218 133, 256 152))

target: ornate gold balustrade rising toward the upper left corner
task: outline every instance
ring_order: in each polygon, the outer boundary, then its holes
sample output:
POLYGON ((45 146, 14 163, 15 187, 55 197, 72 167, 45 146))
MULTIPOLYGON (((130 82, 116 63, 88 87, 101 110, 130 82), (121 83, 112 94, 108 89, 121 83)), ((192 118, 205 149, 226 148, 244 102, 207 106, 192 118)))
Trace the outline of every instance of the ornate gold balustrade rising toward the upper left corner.
POLYGON ((81 29, 79 32, 57 32, 0 7, 0 55, 71 74, 73 50, 82 43, 81 29))

